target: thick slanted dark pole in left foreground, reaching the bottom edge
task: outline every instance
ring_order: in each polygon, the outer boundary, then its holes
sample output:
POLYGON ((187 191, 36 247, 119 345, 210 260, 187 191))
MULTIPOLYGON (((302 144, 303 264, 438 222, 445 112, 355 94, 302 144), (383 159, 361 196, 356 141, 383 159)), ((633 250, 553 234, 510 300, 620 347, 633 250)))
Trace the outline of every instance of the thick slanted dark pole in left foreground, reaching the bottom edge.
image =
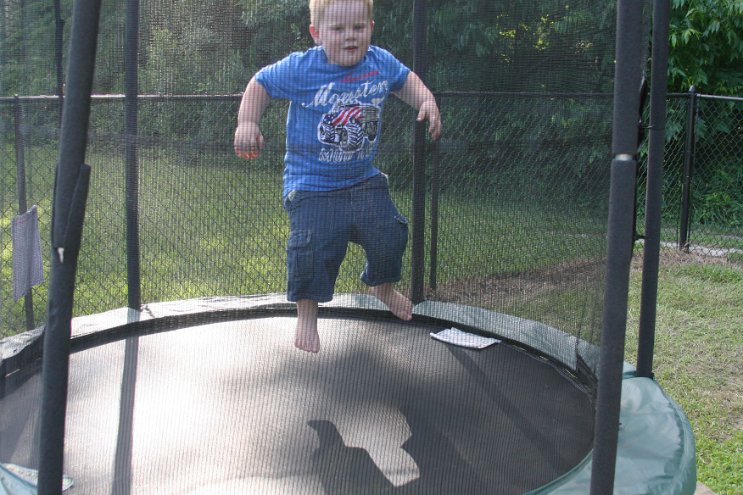
POLYGON ((52 214, 52 269, 42 360, 38 493, 61 494, 70 332, 90 167, 84 164, 100 0, 77 0, 52 214))

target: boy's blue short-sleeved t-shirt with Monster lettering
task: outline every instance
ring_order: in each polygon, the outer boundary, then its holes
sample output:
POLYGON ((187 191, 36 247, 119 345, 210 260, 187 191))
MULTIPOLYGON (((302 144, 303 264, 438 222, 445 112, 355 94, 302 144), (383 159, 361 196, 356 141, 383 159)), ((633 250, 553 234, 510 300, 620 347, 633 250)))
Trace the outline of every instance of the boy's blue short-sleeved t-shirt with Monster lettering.
POLYGON ((342 189, 378 174, 373 162, 384 102, 409 72, 376 46, 352 67, 329 63, 322 47, 314 47, 261 69, 255 77, 269 96, 291 102, 284 195, 342 189))

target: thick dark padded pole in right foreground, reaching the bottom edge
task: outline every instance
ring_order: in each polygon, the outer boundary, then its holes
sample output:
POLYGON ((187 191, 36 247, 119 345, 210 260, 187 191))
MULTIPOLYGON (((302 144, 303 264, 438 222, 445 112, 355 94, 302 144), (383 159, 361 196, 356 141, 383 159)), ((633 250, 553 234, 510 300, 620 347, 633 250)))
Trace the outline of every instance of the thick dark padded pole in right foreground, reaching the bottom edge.
POLYGON ((619 406, 622 395, 629 269, 633 247, 633 202, 637 162, 637 122, 642 80, 643 2, 617 2, 616 68, 612 123, 611 185, 607 240, 606 290, 595 435, 591 466, 591 495, 614 492, 619 406))

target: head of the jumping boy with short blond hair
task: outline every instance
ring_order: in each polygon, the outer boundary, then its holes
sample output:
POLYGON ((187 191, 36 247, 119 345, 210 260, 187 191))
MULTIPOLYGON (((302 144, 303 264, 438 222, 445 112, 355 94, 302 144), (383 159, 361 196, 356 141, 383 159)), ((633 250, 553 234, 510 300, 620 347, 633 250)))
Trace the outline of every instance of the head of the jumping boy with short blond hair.
POLYGON ((325 8, 318 26, 310 25, 310 34, 330 63, 350 67, 366 55, 373 28, 365 2, 337 1, 325 8))

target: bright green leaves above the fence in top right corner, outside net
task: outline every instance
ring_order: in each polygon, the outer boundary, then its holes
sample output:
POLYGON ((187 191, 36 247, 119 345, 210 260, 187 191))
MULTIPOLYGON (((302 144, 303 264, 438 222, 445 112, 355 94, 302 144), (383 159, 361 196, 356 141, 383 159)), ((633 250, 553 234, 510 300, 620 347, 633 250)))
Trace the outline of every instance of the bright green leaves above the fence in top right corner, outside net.
POLYGON ((670 91, 743 92, 743 1, 673 0, 670 91))

